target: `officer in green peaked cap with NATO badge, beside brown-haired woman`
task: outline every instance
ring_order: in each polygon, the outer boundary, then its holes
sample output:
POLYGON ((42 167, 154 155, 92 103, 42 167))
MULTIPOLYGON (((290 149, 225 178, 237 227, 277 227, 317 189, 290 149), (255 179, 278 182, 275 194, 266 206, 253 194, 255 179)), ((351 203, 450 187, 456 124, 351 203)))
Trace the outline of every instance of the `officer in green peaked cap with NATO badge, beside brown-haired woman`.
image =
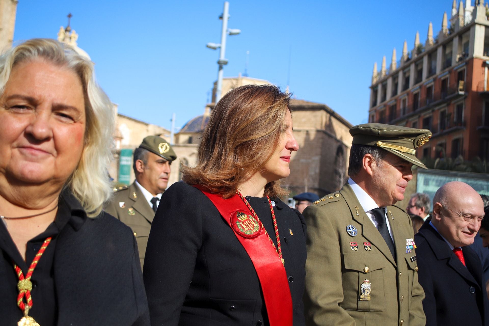
POLYGON ((304 210, 308 259, 306 325, 421 326, 411 218, 395 206, 429 130, 384 124, 352 127, 348 184, 304 210))

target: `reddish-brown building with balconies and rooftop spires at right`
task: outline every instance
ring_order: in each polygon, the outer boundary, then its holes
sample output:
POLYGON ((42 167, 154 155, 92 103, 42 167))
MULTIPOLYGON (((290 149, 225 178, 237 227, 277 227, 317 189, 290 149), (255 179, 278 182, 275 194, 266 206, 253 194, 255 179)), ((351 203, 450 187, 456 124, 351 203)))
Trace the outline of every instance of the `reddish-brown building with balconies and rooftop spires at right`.
POLYGON ((452 4, 442 29, 408 52, 404 41, 400 61, 393 51, 389 69, 385 56, 380 71, 374 65, 369 122, 388 123, 433 132, 418 152, 425 161, 436 158, 489 161, 489 21, 488 4, 476 0, 452 4))

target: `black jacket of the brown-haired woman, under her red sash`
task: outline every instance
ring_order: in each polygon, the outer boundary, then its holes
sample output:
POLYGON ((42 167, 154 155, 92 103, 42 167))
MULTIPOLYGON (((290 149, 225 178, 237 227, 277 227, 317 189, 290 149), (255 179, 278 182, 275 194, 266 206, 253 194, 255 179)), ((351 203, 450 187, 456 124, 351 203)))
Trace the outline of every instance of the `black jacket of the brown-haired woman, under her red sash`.
MULTIPOLYGON (((252 197, 251 206, 276 240, 264 200, 252 197)), ((305 323, 306 227, 302 215, 273 200, 293 322, 301 326, 305 323)), ((260 283, 248 254, 210 199, 183 182, 173 184, 161 196, 143 276, 152 325, 268 325, 260 283)))

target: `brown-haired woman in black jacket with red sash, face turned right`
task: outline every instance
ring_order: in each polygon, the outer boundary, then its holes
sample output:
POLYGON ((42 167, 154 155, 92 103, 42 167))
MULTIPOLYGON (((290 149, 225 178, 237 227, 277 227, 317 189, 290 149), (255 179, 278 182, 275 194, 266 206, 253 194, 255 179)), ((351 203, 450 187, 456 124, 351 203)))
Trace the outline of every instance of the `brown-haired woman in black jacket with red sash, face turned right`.
POLYGON ((303 217, 278 197, 290 173, 289 96, 231 90, 213 109, 195 168, 161 197, 143 276, 152 325, 304 325, 303 217))

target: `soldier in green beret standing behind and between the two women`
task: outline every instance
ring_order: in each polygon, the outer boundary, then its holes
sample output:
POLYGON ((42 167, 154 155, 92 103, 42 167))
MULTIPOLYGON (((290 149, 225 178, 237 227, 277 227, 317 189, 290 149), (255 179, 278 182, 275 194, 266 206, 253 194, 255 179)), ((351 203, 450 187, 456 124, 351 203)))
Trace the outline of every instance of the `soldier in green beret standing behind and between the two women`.
POLYGON ((141 267, 156 207, 168 184, 170 165, 176 158, 172 147, 163 138, 144 138, 133 155, 136 180, 129 187, 114 189, 115 194, 106 207, 107 213, 133 229, 141 267))

